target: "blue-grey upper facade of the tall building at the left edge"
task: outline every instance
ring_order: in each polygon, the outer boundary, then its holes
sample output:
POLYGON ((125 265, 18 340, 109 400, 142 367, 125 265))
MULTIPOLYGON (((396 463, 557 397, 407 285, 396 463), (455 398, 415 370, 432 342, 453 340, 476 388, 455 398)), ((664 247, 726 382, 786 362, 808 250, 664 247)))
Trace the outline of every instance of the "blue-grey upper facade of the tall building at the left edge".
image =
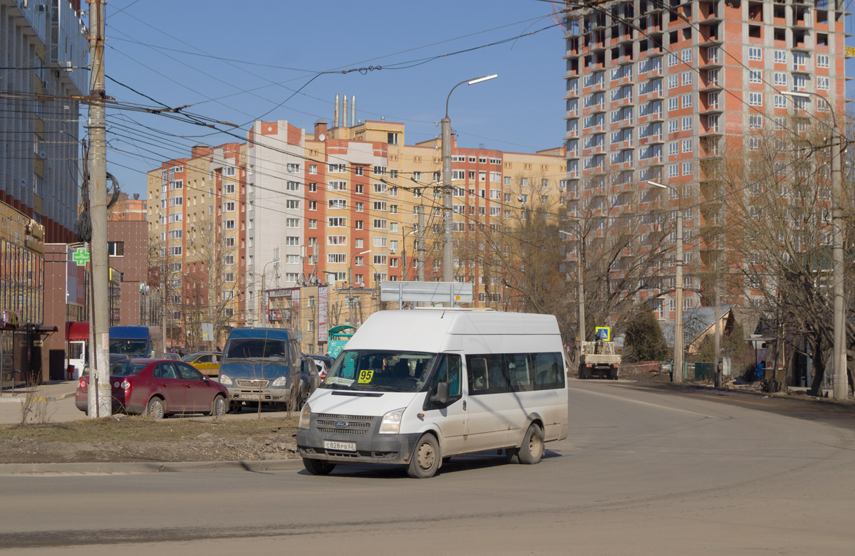
POLYGON ((85 35, 80 0, 0 0, 0 201, 49 243, 74 241, 85 35))

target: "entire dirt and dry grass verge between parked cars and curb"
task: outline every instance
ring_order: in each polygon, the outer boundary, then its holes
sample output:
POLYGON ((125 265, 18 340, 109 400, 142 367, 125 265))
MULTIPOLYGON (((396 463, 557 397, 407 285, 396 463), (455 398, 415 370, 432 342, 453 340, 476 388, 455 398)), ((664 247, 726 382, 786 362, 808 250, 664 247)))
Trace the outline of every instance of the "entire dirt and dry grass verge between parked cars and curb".
POLYGON ((0 464, 298 457, 297 418, 108 417, 0 427, 0 464))

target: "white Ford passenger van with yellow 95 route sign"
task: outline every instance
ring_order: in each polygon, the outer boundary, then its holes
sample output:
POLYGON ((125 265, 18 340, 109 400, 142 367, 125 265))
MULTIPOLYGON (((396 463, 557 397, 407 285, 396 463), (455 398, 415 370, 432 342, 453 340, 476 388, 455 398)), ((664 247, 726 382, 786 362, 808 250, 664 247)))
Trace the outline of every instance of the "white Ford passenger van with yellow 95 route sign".
POLYGON ((471 309, 372 314, 300 413, 306 470, 407 465, 432 477, 442 459, 503 450, 540 461, 568 430, 567 368, 552 315, 471 309))

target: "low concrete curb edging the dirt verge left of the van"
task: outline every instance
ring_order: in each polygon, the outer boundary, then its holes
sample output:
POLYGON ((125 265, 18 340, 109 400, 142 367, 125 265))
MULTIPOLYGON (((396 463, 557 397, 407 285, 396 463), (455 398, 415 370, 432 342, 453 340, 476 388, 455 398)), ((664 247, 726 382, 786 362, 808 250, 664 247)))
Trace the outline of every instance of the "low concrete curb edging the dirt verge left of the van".
POLYGON ((172 461, 141 463, 47 463, 0 464, 0 476, 61 473, 72 475, 121 475, 142 473, 235 473, 250 471, 293 471, 303 469, 302 459, 262 459, 259 461, 172 461))

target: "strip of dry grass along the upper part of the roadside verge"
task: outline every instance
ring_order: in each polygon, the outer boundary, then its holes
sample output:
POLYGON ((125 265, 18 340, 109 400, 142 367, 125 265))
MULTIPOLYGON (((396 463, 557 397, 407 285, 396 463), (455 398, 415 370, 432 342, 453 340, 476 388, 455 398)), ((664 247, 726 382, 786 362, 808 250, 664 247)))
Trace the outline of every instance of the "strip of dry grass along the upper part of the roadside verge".
POLYGON ((168 418, 81 419, 68 423, 0 425, 0 440, 32 438, 41 442, 168 442, 211 433, 241 440, 271 434, 296 433, 297 418, 168 418))

